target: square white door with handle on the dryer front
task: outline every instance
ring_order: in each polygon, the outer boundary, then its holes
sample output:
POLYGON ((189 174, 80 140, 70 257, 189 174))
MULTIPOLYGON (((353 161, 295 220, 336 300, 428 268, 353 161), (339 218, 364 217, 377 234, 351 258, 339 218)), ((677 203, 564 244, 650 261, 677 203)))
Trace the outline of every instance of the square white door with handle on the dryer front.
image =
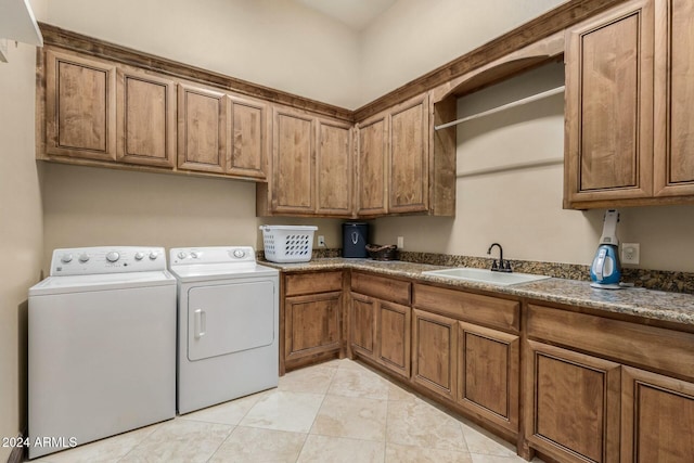
POLYGON ((188 359, 265 347, 274 340, 272 281, 195 286, 188 292, 188 359))

